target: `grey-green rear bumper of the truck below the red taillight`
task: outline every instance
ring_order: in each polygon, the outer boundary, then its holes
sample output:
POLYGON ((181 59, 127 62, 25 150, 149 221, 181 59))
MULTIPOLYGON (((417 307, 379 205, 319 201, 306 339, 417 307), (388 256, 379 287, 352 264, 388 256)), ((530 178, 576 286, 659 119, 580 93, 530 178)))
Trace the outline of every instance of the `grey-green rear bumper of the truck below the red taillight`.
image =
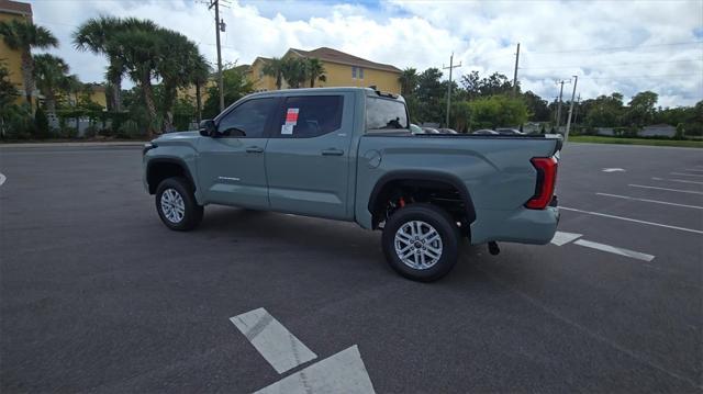
POLYGON ((520 207, 515 211, 491 211, 477 209, 477 218, 471 224, 471 244, 491 240, 518 244, 548 244, 557 232, 559 207, 557 199, 544 210, 520 207))

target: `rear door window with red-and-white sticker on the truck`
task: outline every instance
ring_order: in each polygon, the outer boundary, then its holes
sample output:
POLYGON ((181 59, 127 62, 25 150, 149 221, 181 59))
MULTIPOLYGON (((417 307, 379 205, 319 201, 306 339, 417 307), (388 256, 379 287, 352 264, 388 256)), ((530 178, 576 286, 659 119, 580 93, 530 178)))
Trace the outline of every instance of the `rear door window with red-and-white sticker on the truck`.
POLYGON ((289 97, 279 119, 277 136, 311 138, 339 130, 342 126, 342 95, 289 97))

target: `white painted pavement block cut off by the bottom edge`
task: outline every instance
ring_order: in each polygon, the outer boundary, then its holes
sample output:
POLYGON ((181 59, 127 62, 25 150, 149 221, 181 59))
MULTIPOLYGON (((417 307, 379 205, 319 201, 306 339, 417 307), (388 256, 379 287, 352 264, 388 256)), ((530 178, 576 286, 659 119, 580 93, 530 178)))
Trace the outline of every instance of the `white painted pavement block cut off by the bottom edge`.
POLYGON ((316 362, 255 394, 375 393, 357 346, 316 362))

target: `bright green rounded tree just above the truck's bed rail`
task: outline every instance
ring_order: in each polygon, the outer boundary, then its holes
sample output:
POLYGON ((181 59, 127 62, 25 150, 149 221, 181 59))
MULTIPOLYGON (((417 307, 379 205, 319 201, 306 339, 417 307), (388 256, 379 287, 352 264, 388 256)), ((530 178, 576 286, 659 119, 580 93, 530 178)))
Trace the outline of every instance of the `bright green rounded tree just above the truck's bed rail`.
POLYGON ((517 126, 527 121, 527 105, 520 98, 493 95, 469 103, 471 128, 517 126))

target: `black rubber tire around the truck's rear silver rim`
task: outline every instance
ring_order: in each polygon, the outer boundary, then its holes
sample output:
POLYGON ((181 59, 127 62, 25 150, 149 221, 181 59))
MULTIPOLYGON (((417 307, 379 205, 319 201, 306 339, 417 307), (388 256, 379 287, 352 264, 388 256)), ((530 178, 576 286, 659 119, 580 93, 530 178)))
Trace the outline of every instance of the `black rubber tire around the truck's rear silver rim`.
MULTIPOLYGON (((427 229, 428 227, 424 227, 427 229)), ((386 260, 401 275, 421 282, 432 282, 446 275, 457 262, 459 250, 459 229, 451 217, 442 209, 432 204, 410 204, 393 213, 383 227, 382 247, 386 260), (403 262, 395 250, 395 234, 405 224, 424 222, 432 226, 439 235, 442 252, 428 268, 413 268, 403 262)), ((409 243, 408 245, 410 245, 409 243)), ((400 244, 403 245, 403 244, 400 244)), ((415 244, 413 244, 413 247, 415 244)), ((438 245, 438 244, 434 244, 438 245)), ((417 244, 417 246, 420 246, 417 244)), ((413 250, 420 250, 413 249, 413 250)), ((424 246, 423 246, 424 250, 424 246)), ((420 251, 422 254, 422 251, 420 251)), ((411 256, 417 262, 421 256, 411 256)))

